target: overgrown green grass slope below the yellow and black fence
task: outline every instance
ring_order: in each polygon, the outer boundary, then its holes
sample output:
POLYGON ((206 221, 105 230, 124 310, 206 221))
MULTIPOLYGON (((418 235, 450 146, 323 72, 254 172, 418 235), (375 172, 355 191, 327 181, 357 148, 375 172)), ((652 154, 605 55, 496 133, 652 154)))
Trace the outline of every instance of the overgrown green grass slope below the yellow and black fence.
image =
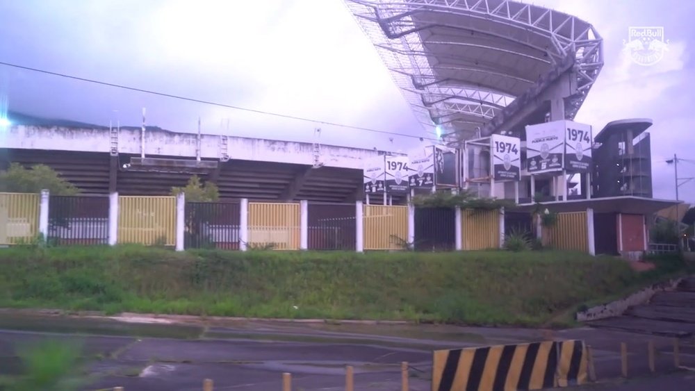
POLYGON ((0 250, 0 306, 531 326, 684 270, 657 265, 638 274, 623 260, 558 251, 15 247, 0 250))

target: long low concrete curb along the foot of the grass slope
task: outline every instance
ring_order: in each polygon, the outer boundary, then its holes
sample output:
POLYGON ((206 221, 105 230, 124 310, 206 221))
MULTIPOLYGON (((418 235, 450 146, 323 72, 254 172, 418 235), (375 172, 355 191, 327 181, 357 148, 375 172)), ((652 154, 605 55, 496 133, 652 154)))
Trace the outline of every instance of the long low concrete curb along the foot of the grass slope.
POLYGON ((286 324, 365 324, 365 325, 399 325, 416 324, 407 320, 358 320, 358 319, 291 319, 291 318, 263 318, 263 317, 219 317, 197 315, 163 315, 148 313, 120 313, 106 315, 101 311, 70 311, 54 309, 24 309, 24 308, 0 308, 0 314, 40 315, 40 316, 69 316, 87 317, 92 319, 111 319, 127 323, 152 323, 152 324, 204 324, 234 323, 234 322, 269 322, 286 324))

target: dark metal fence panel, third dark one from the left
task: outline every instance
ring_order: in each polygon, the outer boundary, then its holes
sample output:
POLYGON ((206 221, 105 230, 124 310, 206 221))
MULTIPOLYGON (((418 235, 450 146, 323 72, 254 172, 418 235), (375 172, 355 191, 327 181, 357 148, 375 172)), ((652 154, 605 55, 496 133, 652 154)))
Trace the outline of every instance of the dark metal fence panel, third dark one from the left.
POLYGON ((307 247, 310 250, 355 249, 354 203, 309 203, 307 247))

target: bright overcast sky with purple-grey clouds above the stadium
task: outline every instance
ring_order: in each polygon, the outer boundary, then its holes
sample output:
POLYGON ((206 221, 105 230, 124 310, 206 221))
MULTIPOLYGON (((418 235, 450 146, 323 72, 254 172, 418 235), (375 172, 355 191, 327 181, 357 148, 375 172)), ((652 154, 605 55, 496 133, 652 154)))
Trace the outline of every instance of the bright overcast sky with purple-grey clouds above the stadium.
MULTIPOLYGON (((675 196, 678 153, 695 160, 695 1, 537 0, 593 24, 605 67, 576 120, 654 120, 655 197, 675 196), (623 54, 630 26, 663 26, 669 51, 656 65, 623 54)), ((420 136, 372 44, 342 0, 0 0, 0 61, 233 106, 420 136)), ((10 110, 172 131, 313 140, 407 150, 417 138, 281 119, 156 97, 0 65, 10 110), (393 141, 389 140, 393 138, 393 141)), ((679 176, 695 176, 683 162, 679 176)), ((695 203, 695 181, 680 188, 695 203)))

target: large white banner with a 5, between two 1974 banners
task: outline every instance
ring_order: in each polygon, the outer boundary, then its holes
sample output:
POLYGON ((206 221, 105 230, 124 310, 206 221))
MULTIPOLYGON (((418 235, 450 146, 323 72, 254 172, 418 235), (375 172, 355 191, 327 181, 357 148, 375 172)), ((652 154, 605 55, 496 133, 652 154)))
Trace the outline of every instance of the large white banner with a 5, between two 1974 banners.
POLYGON ((526 126, 526 162, 529 174, 562 170, 564 121, 526 126))

